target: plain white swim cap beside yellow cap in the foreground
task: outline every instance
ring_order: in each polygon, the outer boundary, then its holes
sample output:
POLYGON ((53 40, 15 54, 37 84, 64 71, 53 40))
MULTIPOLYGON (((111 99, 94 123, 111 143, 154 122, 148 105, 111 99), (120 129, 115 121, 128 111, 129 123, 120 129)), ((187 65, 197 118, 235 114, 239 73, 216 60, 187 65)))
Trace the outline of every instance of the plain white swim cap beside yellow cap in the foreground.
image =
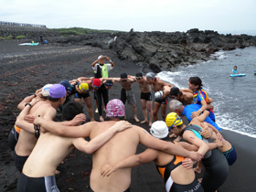
POLYGON ((165 122, 157 121, 151 125, 150 133, 158 139, 163 139, 168 135, 168 127, 165 122))

